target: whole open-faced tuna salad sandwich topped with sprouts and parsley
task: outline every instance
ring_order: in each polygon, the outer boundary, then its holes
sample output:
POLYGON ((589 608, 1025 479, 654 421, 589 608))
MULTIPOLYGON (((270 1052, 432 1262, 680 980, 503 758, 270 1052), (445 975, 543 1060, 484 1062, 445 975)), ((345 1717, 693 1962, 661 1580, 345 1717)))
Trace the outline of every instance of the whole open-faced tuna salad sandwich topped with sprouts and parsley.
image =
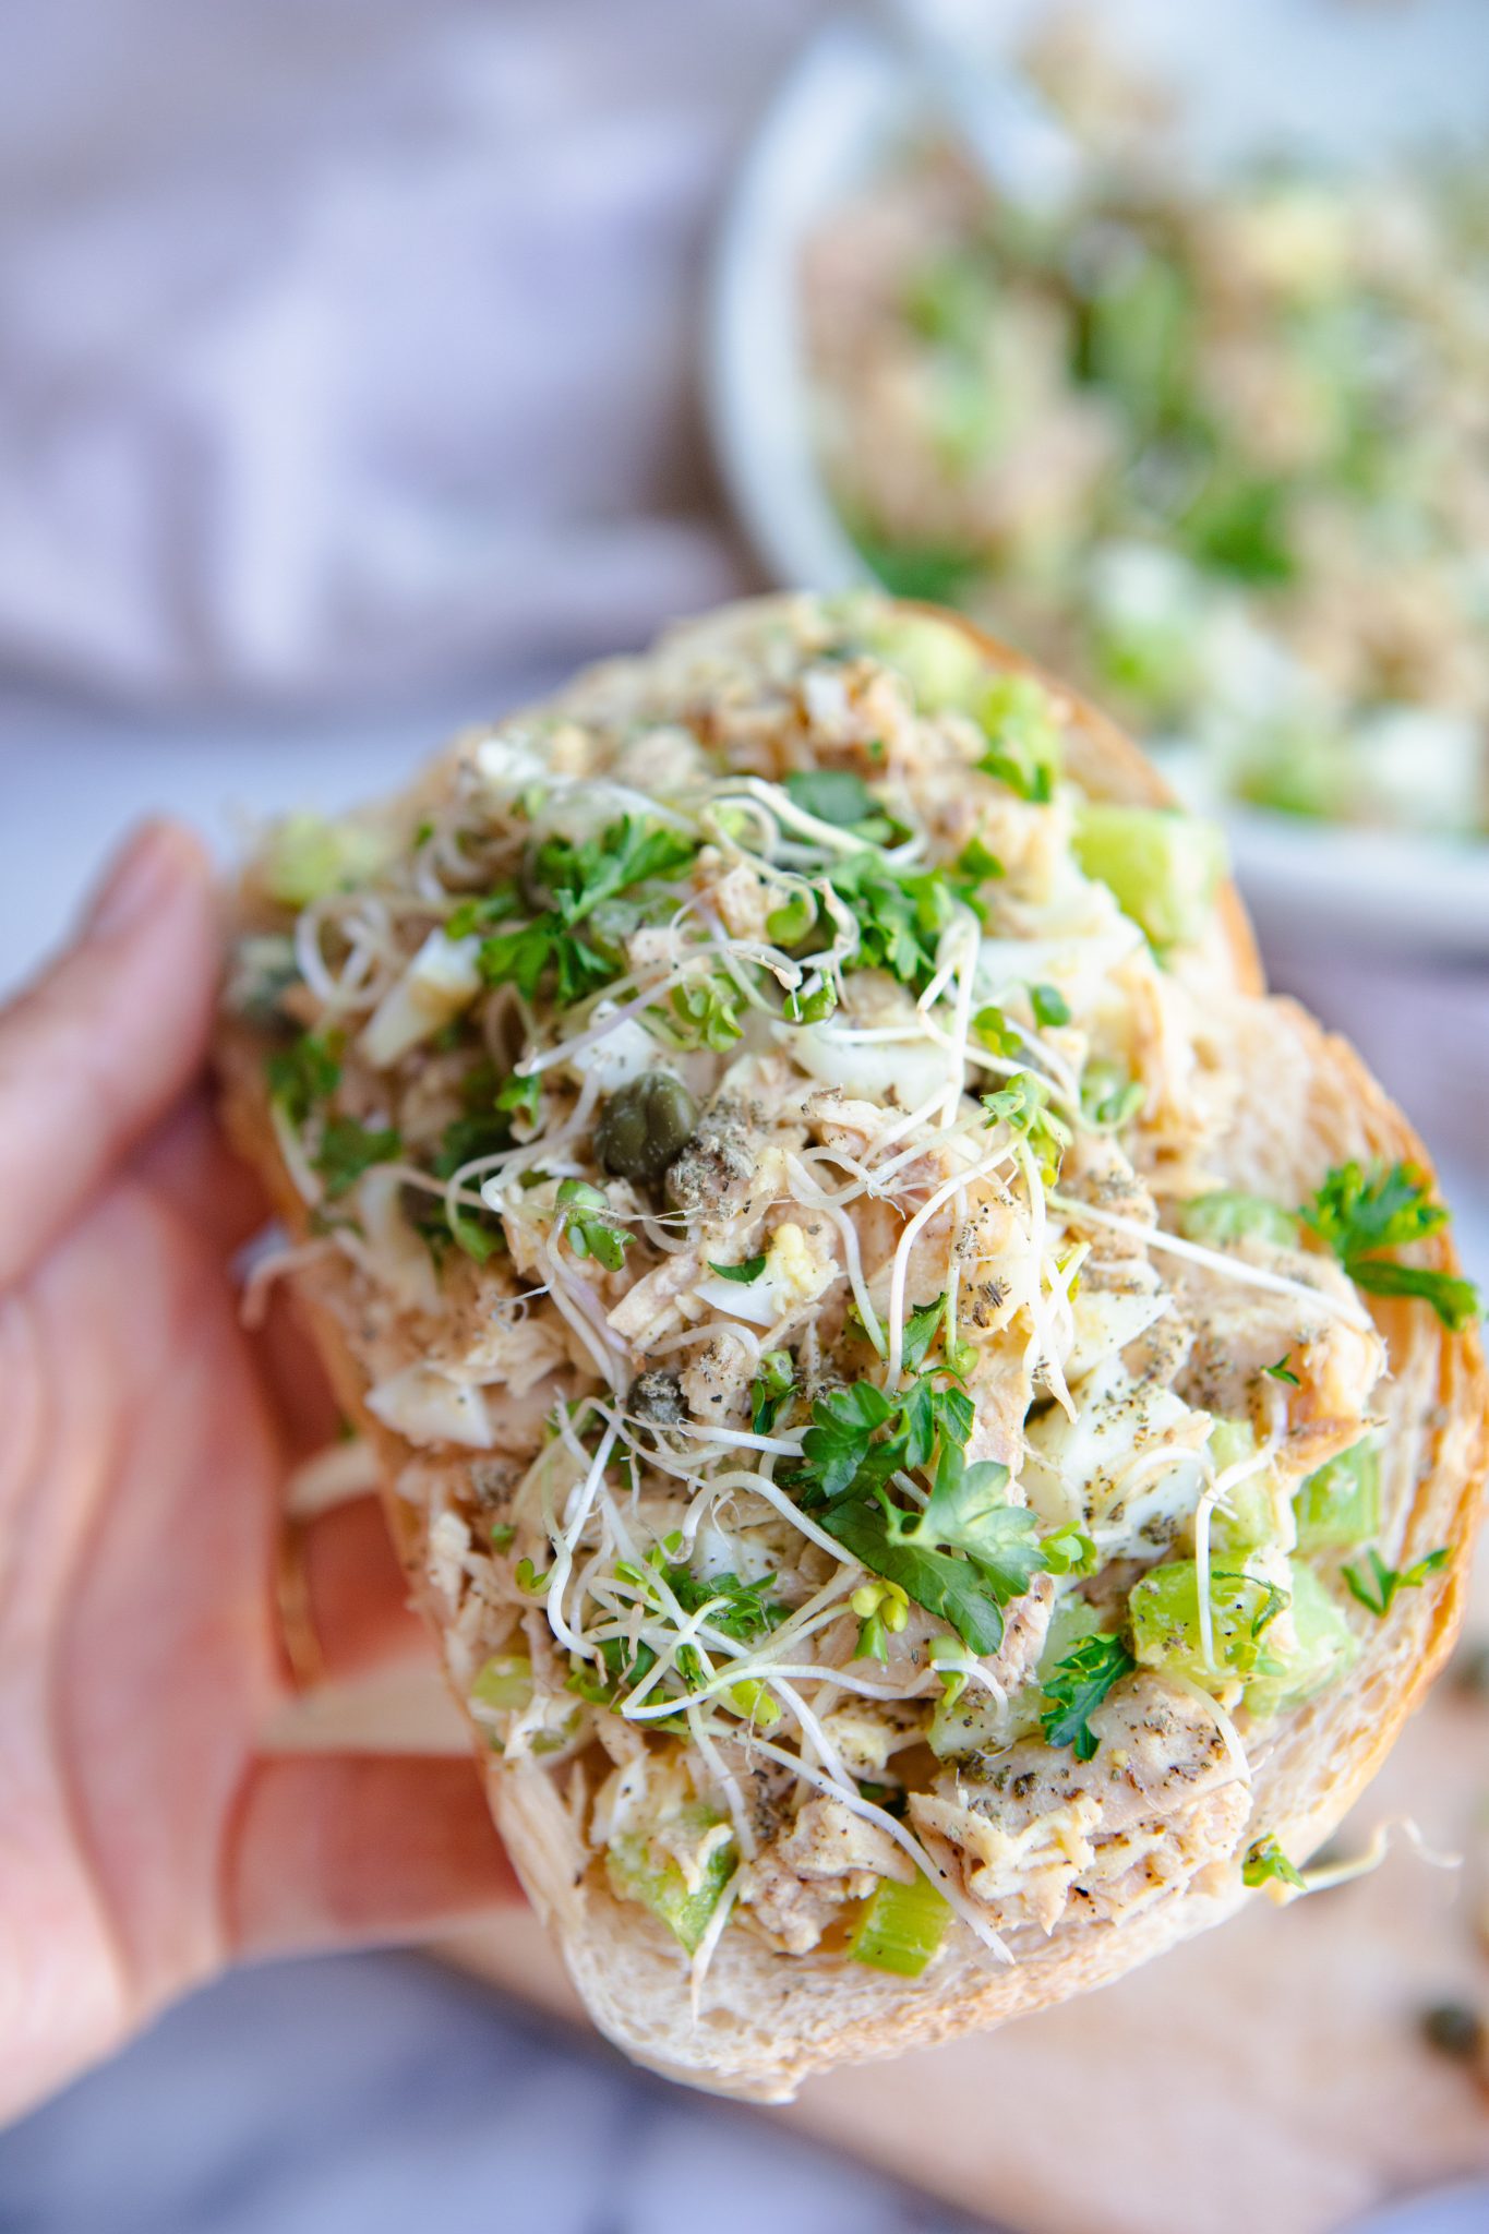
POLYGON ((1478 1298, 1214 831, 772 599, 268 833, 228 1117, 516 1865, 786 2095, 1279 1894, 1451 1640, 1478 1298))

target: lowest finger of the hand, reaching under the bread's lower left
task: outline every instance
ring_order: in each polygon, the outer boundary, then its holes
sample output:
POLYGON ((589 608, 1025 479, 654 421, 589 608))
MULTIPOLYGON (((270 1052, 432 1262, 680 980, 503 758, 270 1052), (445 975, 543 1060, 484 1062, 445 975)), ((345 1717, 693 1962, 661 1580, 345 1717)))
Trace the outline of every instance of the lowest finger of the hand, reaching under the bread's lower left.
POLYGON ((518 1897, 467 1760, 254 1763, 225 1872, 237 1955, 422 1939, 518 1897))

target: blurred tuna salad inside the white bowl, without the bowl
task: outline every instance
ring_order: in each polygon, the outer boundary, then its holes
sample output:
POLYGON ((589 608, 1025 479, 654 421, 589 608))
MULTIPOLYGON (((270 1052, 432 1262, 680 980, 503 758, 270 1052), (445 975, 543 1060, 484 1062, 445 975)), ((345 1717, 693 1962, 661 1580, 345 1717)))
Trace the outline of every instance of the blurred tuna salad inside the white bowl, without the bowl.
POLYGON ((1089 40, 1031 67, 1089 147, 1072 212, 926 143, 808 246, 817 454, 866 565, 1188 746, 1194 791, 1482 836, 1482 156, 1201 179, 1089 40))

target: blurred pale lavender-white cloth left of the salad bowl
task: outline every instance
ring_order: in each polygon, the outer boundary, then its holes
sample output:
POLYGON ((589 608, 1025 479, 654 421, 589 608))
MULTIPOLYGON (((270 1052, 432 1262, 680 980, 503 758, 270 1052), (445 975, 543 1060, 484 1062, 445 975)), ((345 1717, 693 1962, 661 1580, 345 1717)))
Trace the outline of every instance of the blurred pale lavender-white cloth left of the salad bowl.
POLYGON ((741 588, 694 400, 813 0, 47 0, 0 74, 0 668, 346 699, 741 588))

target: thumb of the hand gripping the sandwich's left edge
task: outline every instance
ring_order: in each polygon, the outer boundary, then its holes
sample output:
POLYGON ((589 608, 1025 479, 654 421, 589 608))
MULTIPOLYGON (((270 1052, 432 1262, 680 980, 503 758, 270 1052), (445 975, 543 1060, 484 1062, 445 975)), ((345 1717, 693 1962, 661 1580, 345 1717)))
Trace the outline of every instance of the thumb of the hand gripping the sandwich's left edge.
POLYGON ((179 824, 147 822, 76 943, 0 1010, 0 1287, 199 1070, 217 954, 208 856, 179 824))

